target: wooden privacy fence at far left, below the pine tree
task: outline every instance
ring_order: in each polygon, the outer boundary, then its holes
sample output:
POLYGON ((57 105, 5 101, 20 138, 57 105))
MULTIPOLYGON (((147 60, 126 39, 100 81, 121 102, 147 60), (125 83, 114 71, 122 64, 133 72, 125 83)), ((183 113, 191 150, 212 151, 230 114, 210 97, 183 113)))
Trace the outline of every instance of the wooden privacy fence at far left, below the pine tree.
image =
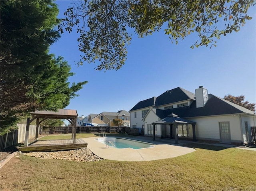
MULTIPOLYGON (((12 130, 11 132, 5 135, 2 135, 0 137, 1 150, 25 141, 26 124, 17 124, 17 125, 18 125, 18 129, 12 130)), ((36 125, 30 125, 28 138, 29 139, 36 138, 36 125)))

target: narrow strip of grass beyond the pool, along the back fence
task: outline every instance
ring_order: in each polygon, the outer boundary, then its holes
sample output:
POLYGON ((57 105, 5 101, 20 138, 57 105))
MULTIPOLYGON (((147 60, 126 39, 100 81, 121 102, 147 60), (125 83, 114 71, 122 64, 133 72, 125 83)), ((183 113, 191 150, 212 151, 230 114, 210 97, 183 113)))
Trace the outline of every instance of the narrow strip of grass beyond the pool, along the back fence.
MULTIPOLYGON (((92 133, 77 133, 76 134, 76 138, 80 139, 80 138, 88 138, 88 137, 96 137, 99 134, 92 134, 92 133)), ((102 133, 100 134, 102 136, 102 133)), ((126 133, 106 133, 107 137, 111 137, 111 136, 122 136, 122 137, 133 137, 133 136, 129 136, 126 133)), ((48 136, 44 136, 42 138, 40 138, 40 141, 44 141, 44 140, 66 140, 66 139, 71 139, 71 134, 64 134, 64 135, 48 135, 48 136)))

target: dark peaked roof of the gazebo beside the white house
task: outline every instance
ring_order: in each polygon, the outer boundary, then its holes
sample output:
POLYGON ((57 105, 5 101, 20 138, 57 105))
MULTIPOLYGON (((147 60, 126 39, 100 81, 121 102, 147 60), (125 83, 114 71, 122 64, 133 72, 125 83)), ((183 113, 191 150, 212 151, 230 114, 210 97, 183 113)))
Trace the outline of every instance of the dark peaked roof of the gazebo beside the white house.
POLYGON ((176 114, 172 113, 168 115, 166 118, 153 122, 152 124, 154 125, 156 124, 162 124, 162 125, 164 124, 196 124, 196 122, 193 122, 184 118, 180 118, 176 114))

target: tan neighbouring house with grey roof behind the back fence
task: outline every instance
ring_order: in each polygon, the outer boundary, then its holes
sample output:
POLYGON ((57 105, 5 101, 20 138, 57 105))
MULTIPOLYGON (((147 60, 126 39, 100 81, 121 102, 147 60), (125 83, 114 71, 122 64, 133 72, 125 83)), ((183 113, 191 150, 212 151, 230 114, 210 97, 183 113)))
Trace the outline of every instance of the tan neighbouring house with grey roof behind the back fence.
POLYGON ((88 122, 97 123, 99 125, 116 126, 113 119, 122 119, 122 126, 130 127, 130 113, 126 110, 118 112, 102 112, 100 114, 90 114, 88 122))

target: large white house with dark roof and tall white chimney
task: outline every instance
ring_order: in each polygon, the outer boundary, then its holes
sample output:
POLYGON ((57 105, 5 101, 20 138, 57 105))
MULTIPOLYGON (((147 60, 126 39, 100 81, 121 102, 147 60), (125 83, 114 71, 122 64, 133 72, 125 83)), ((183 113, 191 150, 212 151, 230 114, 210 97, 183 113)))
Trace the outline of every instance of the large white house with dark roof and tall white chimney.
POLYGON ((138 102, 130 111, 131 127, 144 128, 145 136, 179 137, 222 143, 252 140, 256 114, 208 94, 200 86, 195 94, 180 87, 138 102))

